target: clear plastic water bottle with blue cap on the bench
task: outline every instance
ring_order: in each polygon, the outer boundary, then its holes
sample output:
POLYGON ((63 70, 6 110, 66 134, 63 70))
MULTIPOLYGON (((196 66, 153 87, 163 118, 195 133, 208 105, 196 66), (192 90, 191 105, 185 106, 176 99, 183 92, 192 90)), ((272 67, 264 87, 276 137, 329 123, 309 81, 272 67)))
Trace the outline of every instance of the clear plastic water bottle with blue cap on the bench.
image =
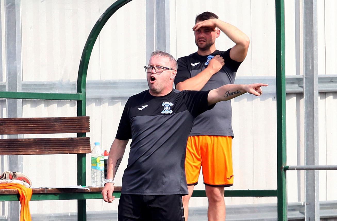
POLYGON ((104 179, 104 156, 103 150, 99 146, 99 142, 95 142, 95 146, 91 151, 91 185, 95 187, 103 186, 104 179))

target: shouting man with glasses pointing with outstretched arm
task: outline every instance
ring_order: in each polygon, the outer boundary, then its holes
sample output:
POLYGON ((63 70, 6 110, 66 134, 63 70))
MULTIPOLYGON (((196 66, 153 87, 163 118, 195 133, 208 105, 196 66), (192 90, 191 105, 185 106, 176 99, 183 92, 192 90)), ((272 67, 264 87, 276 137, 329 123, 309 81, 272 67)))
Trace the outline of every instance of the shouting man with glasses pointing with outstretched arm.
POLYGON ((111 145, 108 172, 102 190, 106 202, 114 200, 114 177, 132 139, 123 174, 118 220, 183 221, 182 195, 186 142, 199 114, 246 92, 260 96, 267 84, 224 85, 210 91, 173 89, 177 62, 163 51, 151 53, 145 66, 149 89, 125 104, 116 139, 111 145))

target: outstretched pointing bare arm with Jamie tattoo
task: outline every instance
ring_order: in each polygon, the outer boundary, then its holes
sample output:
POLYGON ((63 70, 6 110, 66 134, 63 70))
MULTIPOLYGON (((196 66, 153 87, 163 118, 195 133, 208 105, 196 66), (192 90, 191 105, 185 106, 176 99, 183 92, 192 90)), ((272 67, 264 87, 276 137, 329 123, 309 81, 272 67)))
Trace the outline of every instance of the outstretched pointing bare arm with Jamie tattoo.
POLYGON ((227 101, 236 98, 245 93, 253 94, 255 96, 262 95, 262 86, 268 84, 226 84, 216 89, 210 90, 208 93, 208 105, 218 103, 220 101, 227 101))

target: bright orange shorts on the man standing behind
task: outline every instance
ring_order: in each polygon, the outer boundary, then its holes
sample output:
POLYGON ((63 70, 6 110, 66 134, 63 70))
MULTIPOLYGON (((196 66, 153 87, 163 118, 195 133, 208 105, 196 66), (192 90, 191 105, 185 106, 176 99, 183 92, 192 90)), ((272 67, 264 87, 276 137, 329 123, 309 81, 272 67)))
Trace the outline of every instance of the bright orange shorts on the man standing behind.
POLYGON ((185 160, 187 185, 198 183, 201 167, 205 185, 233 186, 232 137, 189 136, 185 160))

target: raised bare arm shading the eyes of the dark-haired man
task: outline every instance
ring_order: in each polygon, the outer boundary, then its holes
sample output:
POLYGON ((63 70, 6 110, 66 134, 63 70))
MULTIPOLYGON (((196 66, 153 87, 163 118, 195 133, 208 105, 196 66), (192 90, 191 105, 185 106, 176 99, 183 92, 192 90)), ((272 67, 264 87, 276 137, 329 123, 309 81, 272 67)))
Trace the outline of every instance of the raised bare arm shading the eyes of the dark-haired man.
POLYGON ((249 47, 249 38, 237 27, 223 22, 219 19, 209 19, 196 23, 192 29, 193 31, 195 31, 200 27, 212 27, 213 29, 217 27, 218 29, 220 29, 223 33, 225 33, 225 35, 228 36, 229 39, 231 39, 235 43, 235 46, 231 49, 231 52, 229 53, 231 59, 237 62, 242 62, 243 60, 245 60, 249 47))

